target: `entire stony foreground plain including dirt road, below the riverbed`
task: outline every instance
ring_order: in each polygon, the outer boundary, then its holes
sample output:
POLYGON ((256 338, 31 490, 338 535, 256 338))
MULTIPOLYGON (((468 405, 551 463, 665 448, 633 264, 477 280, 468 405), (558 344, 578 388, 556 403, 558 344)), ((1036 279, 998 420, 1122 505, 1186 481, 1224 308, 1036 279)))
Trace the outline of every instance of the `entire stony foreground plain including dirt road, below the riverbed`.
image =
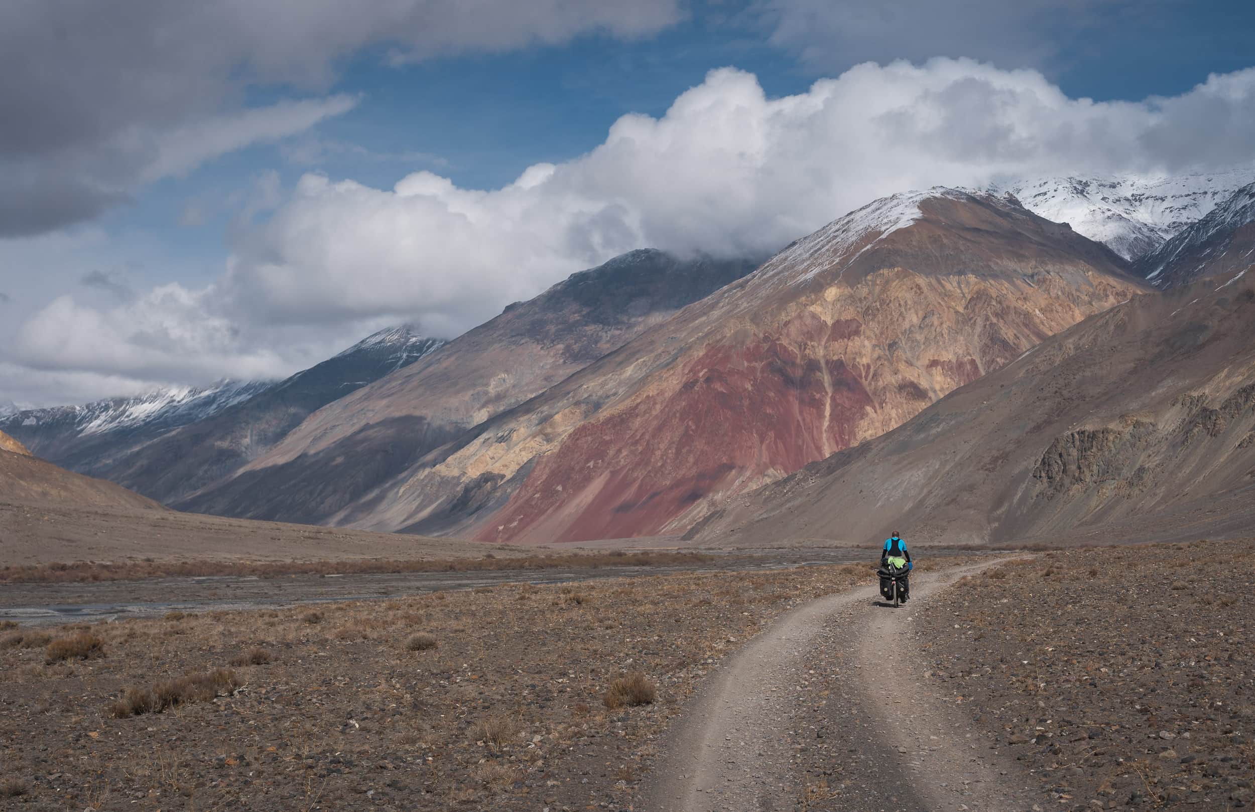
POLYGON ((925 564, 23 625, 0 807, 1251 804, 1255 541, 925 564))

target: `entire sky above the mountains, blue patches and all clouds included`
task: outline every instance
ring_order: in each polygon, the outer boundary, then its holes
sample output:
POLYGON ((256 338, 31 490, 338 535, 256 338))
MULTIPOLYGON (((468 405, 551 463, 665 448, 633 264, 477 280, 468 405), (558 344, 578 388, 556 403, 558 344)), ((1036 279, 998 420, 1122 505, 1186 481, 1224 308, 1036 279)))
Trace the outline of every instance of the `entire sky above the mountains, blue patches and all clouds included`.
POLYGON ((764 252, 901 184, 1255 158, 1249 3, 142 0, 119 14, 0 10, 0 103, 16 110, 0 123, 0 401, 281 375, 395 320, 456 335, 621 248, 764 252), (710 74, 724 66, 743 73, 710 74), (1227 84, 1196 90, 1211 74, 1227 84), (868 123, 897 94, 970 135, 945 154, 937 133, 885 152, 867 139, 896 134, 868 123), (668 114, 680 98, 718 115, 668 114), (631 113, 649 119, 616 125, 631 113), (1084 138, 971 147, 1055 119, 1084 138), (552 178, 476 195, 535 164, 552 178), (422 170, 452 183, 393 192, 422 170), (358 296, 366 271, 378 297, 358 296))

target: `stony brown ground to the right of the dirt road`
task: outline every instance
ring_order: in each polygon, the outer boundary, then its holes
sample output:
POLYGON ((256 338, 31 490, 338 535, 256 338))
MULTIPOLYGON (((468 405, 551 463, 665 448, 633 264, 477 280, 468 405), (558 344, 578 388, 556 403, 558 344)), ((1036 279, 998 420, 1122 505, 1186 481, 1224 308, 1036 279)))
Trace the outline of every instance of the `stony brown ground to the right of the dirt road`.
POLYGON ((1034 771, 1040 808, 1250 808, 1252 589, 1255 541, 1015 561, 921 615, 922 682, 1034 771))

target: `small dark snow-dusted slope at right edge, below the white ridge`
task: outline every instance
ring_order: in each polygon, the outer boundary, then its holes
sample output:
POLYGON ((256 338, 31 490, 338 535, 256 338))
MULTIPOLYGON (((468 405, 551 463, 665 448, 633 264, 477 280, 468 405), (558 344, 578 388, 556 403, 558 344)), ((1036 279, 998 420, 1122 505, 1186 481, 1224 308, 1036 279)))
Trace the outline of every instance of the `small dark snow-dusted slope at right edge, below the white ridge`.
POLYGON ((1136 263, 1160 288, 1210 276, 1232 276, 1255 262, 1255 183, 1237 189, 1199 222, 1136 263))

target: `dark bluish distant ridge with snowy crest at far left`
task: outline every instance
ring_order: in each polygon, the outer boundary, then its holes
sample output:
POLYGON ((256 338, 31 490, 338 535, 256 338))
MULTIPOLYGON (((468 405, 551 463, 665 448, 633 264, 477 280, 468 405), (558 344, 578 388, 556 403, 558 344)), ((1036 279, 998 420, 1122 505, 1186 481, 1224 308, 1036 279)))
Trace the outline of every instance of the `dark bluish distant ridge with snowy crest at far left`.
POLYGON ((0 421, 0 429, 70 470, 173 501, 230 476, 320 406, 442 343, 409 328, 390 328, 277 383, 183 387, 23 411, 0 421))

